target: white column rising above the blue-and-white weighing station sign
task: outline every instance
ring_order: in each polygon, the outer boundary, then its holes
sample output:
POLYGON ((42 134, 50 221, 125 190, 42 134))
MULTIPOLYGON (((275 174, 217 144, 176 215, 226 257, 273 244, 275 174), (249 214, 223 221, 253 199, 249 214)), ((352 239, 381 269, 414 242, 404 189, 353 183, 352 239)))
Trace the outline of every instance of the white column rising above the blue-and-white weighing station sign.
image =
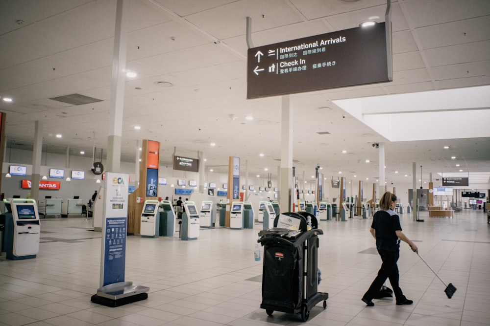
POLYGON ((116 9, 111 101, 109 105, 109 135, 107 137, 107 171, 109 172, 120 172, 121 170, 124 80, 126 77, 127 5, 128 3, 125 0, 118 0, 116 9))

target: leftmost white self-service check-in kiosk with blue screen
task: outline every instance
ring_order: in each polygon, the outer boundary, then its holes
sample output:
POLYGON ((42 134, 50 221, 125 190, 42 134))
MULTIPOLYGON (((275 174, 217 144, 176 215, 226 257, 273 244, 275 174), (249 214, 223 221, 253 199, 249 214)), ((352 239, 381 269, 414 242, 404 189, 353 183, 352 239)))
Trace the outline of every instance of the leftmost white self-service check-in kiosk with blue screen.
POLYGON ((36 258, 39 252, 41 223, 34 199, 10 199, 10 213, 5 214, 7 259, 36 258))

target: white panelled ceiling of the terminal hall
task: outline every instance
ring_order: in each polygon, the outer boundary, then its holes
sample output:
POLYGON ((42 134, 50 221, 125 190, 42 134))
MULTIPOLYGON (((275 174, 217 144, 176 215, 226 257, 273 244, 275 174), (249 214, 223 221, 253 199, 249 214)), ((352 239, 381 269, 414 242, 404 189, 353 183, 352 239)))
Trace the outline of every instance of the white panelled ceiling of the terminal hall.
MULTIPOLYGON (((184 156, 203 151, 209 167, 240 156, 251 174, 267 174, 268 168, 274 175, 281 156, 281 98, 246 100, 246 17, 252 19, 253 45, 261 46, 357 27, 373 16, 382 22, 386 10, 386 0, 127 4, 126 68, 138 77, 127 79, 125 86, 122 160, 134 161, 137 140, 151 139, 161 142, 162 163, 172 161, 175 147, 184 156), (159 81, 173 86, 156 85, 159 81), (246 121, 246 115, 254 119, 246 121)), ((12 103, 0 101, 0 110, 7 112, 9 146, 29 148, 34 122, 40 120, 43 142, 53 151, 64 153, 70 146, 73 153, 92 153, 95 132, 96 147, 106 152, 115 8, 115 0, 0 2, 0 96, 13 98, 12 103), (72 93, 102 101, 71 106, 49 99, 72 93), (63 137, 55 138, 56 133, 63 137)), ((490 1, 393 0, 391 9, 391 83, 291 95, 298 174, 305 171, 309 177, 319 164, 327 176, 342 171, 348 179, 373 180, 379 175, 374 142, 385 143, 385 176, 394 185, 412 182, 412 162, 423 166, 424 179, 459 169, 490 172, 489 92, 473 88, 490 85, 490 1), (474 96, 464 90, 482 95, 478 110, 468 110, 474 96), (397 112, 402 114, 397 119, 373 114, 382 109, 372 102, 369 114, 376 123, 370 127, 362 122, 368 114, 359 119, 341 108, 345 102, 337 102, 427 91, 458 94, 458 101, 449 101, 451 112, 429 107, 415 118, 417 108, 404 109, 410 113, 397 112), (400 135, 392 139, 375 125, 400 135), (330 134, 318 134, 323 131, 330 134), (443 150, 445 145, 450 149, 443 150)), ((392 103, 402 107, 404 99, 392 103)))

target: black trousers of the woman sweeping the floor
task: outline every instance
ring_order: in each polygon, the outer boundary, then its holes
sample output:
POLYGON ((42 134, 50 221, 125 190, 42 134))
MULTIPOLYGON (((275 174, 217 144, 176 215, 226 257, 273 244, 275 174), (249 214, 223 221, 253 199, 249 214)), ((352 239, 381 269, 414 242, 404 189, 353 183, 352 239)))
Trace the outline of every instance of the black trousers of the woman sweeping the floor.
POLYGON ((398 274, 398 265, 396 265, 396 262, 400 257, 400 251, 386 251, 378 249, 378 253, 383 262, 381 263, 381 268, 378 271, 378 276, 376 276, 374 281, 371 283, 371 286, 369 286, 369 289, 364 294, 363 298, 372 300, 379 292, 379 289, 383 283, 385 283, 386 279, 389 279, 390 283, 392 284, 396 301, 401 302, 407 300, 398 284, 400 275, 398 274))

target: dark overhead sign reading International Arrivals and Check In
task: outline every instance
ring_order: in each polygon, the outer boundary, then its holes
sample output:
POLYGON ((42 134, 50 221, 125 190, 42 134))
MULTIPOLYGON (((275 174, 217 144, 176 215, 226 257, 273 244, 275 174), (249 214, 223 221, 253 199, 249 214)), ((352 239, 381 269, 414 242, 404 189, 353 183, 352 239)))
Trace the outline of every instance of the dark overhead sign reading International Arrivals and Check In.
POLYGON ((248 49, 247 99, 389 82, 386 44, 382 22, 248 49))

